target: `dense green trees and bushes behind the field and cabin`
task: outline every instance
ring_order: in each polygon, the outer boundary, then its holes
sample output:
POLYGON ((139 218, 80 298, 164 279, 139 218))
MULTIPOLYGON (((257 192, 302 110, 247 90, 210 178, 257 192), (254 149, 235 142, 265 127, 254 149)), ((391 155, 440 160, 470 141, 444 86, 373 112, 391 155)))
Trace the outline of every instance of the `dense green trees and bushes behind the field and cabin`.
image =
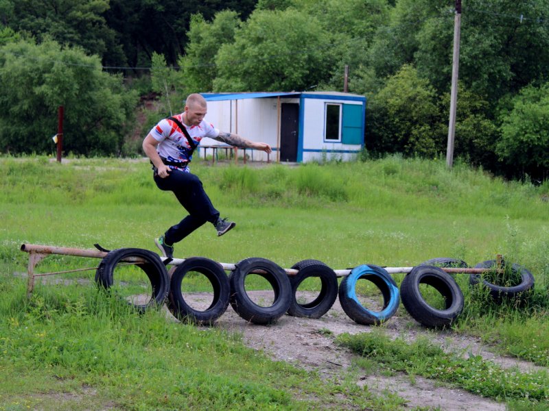
MULTIPOLYGON (((454 7, 449 0, 5 0, 0 151, 52 149, 56 108, 65 105, 75 137, 67 153, 135 155, 136 136, 182 110, 190 92, 343 91, 348 66, 349 92, 368 101, 369 155, 435 158, 447 147, 454 7), (159 113, 135 123, 128 90, 159 98, 159 113)), ((548 8, 549 0, 467 1, 460 31, 454 155, 539 184, 548 177, 548 8)))

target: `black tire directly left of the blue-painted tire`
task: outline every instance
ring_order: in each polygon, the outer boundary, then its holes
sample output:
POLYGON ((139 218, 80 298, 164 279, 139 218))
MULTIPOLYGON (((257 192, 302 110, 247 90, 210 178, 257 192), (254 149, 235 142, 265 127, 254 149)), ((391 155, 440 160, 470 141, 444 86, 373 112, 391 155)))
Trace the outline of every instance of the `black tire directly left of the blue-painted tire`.
POLYGON ((288 308, 288 314, 308 319, 319 319, 328 312, 338 297, 338 277, 336 273, 318 260, 297 262, 292 266, 292 269, 299 272, 296 275, 288 276, 292 286, 292 301, 290 308, 288 308), (318 277, 320 279, 320 292, 313 301, 300 304, 297 302, 296 292, 300 284, 309 277, 318 277))

